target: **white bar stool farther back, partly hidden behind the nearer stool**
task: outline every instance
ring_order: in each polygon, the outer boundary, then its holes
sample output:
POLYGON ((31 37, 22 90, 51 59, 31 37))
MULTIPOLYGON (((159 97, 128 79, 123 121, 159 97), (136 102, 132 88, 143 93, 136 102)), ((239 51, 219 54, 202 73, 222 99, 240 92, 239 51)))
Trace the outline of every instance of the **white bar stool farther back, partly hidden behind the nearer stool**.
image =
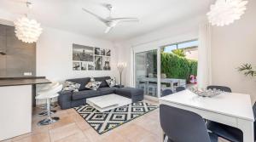
MULTIPOLYGON (((52 82, 52 83, 49 83, 47 85, 45 85, 43 88, 40 89, 40 91, 38 91, 37 94, 40 94, 42 91, 45 91, 45 90, 49 90, 50 88, 55 88, 56 86, 60 85, 60 82, 52 82)), ((50 102, 51 102, 51 99, 50 99, 50 102)), ((53 105, 53 104, 50 104, 50 107, 51 108, 55 108, 57 105, 53 105)), ((40 112, 38 114, 38 116, 47 116, 47 104, 45 104, 44 106, 41 107, 42 109, 44 109, 45 111, 43 112, 40 112)), ((56 111, 51 111, 51 114, 54 114, 56 111)))

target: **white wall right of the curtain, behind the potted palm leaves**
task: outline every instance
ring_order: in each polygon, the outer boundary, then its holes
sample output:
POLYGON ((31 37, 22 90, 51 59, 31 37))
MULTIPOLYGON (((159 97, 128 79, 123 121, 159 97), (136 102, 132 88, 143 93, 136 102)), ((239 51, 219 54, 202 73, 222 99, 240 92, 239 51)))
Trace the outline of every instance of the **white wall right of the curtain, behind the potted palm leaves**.
POLYGON ((212 28, 212 83, 229 86, 233 92, 256 96, 256 79, 237 71, 242 63, 256 66, 256 1, 249 0, 241 20, 212 28))

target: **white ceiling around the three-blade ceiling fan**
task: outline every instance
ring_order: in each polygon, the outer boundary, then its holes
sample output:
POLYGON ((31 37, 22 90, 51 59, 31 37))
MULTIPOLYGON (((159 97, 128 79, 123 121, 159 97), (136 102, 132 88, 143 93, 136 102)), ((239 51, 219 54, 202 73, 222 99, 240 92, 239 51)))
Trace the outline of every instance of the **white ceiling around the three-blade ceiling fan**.
MULTIPOLYGON (((0 0, 0 10, 25 14, 26 0, 0 0)), ((158 28, 206 14, 214 0, 30 0, 29 17, 44 26, 107 40, 125 40, 158 28), (138 23, 122 23, 105 34, 106 26, 82 8, 108 16, 104 3, 113 4, 113 17, 137 17, 138 23)), ((0 17, 1 18, 1 17, 0 17)))

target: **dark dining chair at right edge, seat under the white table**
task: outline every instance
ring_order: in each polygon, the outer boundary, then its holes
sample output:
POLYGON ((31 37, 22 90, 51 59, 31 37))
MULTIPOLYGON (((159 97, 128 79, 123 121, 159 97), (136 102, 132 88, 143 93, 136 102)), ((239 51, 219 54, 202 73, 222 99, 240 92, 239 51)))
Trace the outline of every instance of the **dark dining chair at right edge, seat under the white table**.
MULTIPOLYGON (((253 114, 256 116, 256 103, 253 105, 253 114)), ((254 121, 254 141, 256 136, 256 122, 254 121)), ((228 125, 224 125, 218 122, 210 122, 207 123, 208 130, 212 131, 212 133, 217 134, 219 137, 230 140, 232 142, 243 142, 243 134, 239 128, 233 128, 228 125)))

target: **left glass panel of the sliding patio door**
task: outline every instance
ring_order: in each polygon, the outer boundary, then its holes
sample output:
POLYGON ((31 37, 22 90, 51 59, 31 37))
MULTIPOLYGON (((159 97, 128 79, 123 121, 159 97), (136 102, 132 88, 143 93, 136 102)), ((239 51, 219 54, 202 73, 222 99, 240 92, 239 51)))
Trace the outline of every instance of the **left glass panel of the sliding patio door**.
POLYGON ((144 95, 158 97, 157 49, 135 54, 135 83, 144 95))

